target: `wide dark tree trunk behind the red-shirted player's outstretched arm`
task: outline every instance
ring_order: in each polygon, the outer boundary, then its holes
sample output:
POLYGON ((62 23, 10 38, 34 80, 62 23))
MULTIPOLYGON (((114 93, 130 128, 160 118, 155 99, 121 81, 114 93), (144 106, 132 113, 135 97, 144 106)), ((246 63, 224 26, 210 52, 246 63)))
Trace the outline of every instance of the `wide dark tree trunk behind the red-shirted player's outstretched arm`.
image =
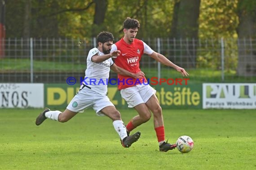
POLYGON ((175 0, 171 38, 177 40, 176 49, 184 51, 179 54, 180 58, 175 59, 175 63, 181 67, 195 68, 196 66, 199 9, 200 0, 175 0))

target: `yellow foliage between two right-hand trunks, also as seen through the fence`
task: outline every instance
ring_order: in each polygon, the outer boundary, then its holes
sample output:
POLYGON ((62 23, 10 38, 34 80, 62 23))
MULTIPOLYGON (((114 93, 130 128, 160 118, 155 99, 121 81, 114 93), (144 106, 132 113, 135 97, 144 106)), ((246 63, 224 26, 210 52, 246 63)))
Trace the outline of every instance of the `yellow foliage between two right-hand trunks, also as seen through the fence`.
POLYGON ((223 38, 225 41, 225 70, 235 72, 237 68, 236 14, 238 0, 203 0, 200 4, 199 39, 201 48, 197 51, 197 67, 218 70, 221 68, 220 48, 223 38))

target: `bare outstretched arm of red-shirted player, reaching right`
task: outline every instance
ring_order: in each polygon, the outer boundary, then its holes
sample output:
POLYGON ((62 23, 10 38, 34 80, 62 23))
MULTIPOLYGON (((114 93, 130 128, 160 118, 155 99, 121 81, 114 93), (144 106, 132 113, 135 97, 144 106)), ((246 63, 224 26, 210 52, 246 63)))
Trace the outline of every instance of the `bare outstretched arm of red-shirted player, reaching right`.
POLYGON ((172 67, 172 68, 176 69, 178 72, 180 72, 182 74, 182 76, 189 76, 189 74, 185 71, 184 68, 181 68, 181 67, 177 66, 176 64, 172 63, 169 59, 167 59, 162 54, 159 54, 159 53, 154 51, 150 55, 150 57, 152 57, 153 59, 159 61, 161 64, 164 64, 166 66, 169 66, 169 67, 172 67))

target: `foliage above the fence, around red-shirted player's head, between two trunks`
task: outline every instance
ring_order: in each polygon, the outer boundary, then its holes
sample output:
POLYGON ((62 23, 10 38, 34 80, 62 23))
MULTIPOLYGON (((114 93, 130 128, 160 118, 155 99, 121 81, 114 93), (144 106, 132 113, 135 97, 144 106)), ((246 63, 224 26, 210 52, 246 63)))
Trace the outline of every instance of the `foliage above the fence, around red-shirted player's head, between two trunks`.
POLYGON ((109 0, 105 24, 116 37, 123 36, 126 17, 140 21, 138 38, 166 37, 172 21, 172 0, 109 0))

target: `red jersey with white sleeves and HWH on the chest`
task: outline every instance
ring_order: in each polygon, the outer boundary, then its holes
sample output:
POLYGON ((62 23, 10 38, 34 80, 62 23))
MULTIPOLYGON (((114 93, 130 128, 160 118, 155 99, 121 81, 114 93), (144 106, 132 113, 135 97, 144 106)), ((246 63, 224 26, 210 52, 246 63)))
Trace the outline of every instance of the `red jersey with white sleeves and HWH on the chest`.
MULTIPOLYGON (((120 50, 120 55, 115 59, 115 64, 125 70, 137 73, 140 72, 140 60, 141 56, 144 54, 144 50, 146 47, 146 54, 152 54, 153 50, 146 45, 143 41, 139 39, 134 39, 131 44, 128 44, 121 38, 118 42, 113 44, 112 50, 120 50)), ((139 80, 129 77, 129 76, 122 76, 118 74, 118 89, 125 89, 128 87, 132 87, 139 84, 146 84, 146 78, 140 78, 139 80)))

